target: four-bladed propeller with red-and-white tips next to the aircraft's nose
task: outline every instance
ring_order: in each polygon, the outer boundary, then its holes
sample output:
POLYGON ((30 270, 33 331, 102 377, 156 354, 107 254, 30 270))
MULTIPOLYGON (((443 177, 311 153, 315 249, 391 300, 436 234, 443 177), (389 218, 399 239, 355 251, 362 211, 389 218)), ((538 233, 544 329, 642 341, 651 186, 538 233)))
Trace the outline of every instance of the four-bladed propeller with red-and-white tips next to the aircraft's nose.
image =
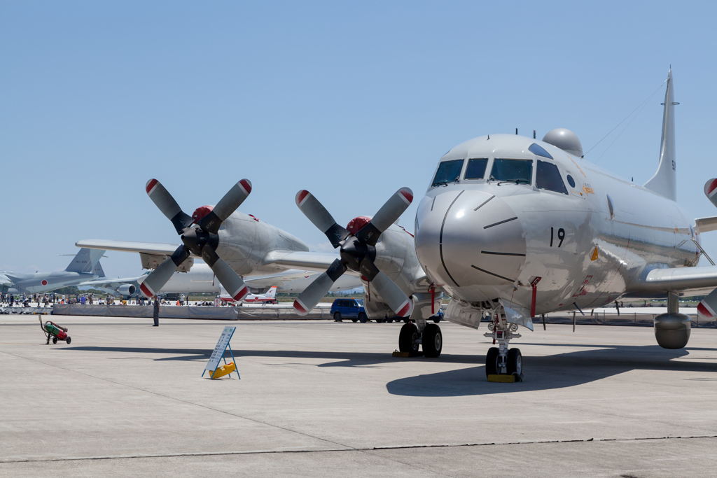
POLYGON ((381 206, 373 219, 357 217, 348 224, 348 229, 339 226, 333 216, 309 191, 296 193, 296 205, 314 226, 326 234, 334 248, 340 248, 341 259, 336 259, 326 272, 320 274, 294 301, 294 308, 300 315, 312 310, 331 289, 336 279, 347 269, 361 273, 374 290, 379 292, 391 310, 399 317, 407 317, 413 309, 413 302, 386 274, 374 264, 376 242, 391 224, 399 219, 413 201, 413 192, 401 188, 381 206), (353 231, 353 233, 352 233, 353 231))

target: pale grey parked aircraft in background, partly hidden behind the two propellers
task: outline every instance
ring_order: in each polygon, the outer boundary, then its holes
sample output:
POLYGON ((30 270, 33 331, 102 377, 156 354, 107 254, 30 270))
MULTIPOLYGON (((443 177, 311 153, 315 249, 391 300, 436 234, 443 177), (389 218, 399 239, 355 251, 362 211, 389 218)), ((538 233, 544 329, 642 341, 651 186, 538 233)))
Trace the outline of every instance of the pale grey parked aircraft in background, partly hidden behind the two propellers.
MULTIPOLYGON (((127 297, 135 295, 138 292, 140 284, 146 279, 148 274, 147 272, 139 277, 127 277, 124 279, 110 277, 93 279, 82 282, 80 286, 94 287, 105 290, 113 295, 127 297)), ((272 286, 277 286, 277 292, 297 293, 303 292, 313 279, 315 279, 314 276, 316 274, 318 274, 318 272, 289 269, 285 272, 278 272, 277 274, 247 277, 244 279, 244 282, 249 287, 250 292, 255 294, 266 292, 272 286)), ((363 287, 359 277, 346 275, 334 283, 330 292, 340 292, 342 290, 351 290, 359 287, 363 287)), ((194 264, 189 272, 175 272, 159 291, 160 294, 189 294, 190 292, 224 294, 226 291, 219 285, 219 281, 214 277, 212 269, 203 262, 194 264)))

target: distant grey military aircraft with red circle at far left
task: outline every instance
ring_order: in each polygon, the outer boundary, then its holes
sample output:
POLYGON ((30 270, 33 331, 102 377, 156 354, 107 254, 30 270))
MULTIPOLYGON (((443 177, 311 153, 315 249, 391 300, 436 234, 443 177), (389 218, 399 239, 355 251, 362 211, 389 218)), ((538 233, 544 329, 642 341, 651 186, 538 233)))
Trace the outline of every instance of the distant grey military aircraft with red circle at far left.
POLYGON ((105 251, 102 249, 82 248, 63 271, 37 274, 0 272, 0 291, 4 294, 35 294, 105 277, 100 265, 103 254, 105 251))

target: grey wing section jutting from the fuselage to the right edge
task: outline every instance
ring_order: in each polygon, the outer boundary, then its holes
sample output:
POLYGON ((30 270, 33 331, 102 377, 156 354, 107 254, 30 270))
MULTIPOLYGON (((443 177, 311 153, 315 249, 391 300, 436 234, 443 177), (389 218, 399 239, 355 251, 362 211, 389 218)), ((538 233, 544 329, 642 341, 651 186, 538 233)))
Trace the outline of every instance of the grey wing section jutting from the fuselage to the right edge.
POLYGON ((630 287, 629 295, 684 292, 704 295, 717 287, 717 266, 652 269, 639 283, 630 287))

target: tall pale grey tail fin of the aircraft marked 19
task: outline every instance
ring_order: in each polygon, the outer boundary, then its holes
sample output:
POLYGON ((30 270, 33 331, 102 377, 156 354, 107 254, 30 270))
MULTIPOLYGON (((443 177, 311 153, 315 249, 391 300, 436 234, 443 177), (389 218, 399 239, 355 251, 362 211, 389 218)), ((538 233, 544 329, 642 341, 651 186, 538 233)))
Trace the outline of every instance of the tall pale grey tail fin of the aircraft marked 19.
POLYGON ((663 138, 660 143, 660 165, 657 173, 645 183, 645 188, 660 196, 677 201, 677 158, 675 157, 675 105, 673 97, 672 69, 668 72, 668 88, 665 91, 665 111, 663 113, 663 138))

